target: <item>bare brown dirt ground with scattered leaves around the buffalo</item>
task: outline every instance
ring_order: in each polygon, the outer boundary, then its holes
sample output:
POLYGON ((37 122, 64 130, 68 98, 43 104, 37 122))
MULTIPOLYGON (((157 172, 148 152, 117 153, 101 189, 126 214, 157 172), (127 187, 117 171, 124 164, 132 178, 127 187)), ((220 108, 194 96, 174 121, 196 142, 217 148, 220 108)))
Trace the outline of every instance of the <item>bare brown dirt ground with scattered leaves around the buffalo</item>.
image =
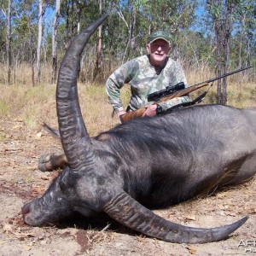
POLYGON ((226 241, 173 244, 143 236, 106 216, 44 228, 24 224, 20 208, 44 193, 58 172, 38 171, 38 158, 61 150, 45 131, 20 120, 0 121, 0 255, 256 255, 256 179, 235 189, 165 210, 163 218, 195 227, 230 224, 246 215, 246 224, 226 241))

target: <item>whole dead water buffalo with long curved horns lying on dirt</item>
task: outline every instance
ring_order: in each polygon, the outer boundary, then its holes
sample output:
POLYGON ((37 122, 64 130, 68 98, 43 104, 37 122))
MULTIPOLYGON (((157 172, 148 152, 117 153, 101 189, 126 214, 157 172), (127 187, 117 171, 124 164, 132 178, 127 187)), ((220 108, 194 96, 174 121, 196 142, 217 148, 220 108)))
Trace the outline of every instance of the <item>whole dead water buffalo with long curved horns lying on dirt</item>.
POLYGON ((150 207, 166 207, 212 189, 247 181, 256 172, 256 109, 218 105, 183 108, 135 119, 90 138, 79 107, 77 77, 84 46, 102 16, 67 49, 56 106, 68 166, 38 199, 26 203, 26 224, 58 222, 73 212, 106 212, 120 224, 165 241, 220 241, 247 217, 201 229, 167 221, 150 207))

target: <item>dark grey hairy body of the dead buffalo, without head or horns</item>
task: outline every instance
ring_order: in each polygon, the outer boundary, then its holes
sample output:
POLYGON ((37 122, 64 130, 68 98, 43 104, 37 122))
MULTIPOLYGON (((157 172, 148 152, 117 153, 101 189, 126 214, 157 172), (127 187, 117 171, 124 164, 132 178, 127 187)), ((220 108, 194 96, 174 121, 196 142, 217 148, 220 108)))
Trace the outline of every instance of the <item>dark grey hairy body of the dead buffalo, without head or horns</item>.
POLYGON ((112 176, 122 177, 125 192, 160 207, 252 177, 255 127, 255 109, 209 105, 137 119, 94 142, 99 155, 110 153, 112 176))

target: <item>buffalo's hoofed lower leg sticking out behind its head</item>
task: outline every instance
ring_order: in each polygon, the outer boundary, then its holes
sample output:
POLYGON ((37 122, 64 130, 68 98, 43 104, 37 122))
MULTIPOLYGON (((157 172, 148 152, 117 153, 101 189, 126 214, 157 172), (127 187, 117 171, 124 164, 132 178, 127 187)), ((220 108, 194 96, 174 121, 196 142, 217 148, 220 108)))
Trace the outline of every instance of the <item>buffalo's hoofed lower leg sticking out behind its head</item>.
POLYGON ((63 168, 67 165, 65 154, 42 154, 38 160, 38 169, 42 172, 51 172, 57 168, 63 168))

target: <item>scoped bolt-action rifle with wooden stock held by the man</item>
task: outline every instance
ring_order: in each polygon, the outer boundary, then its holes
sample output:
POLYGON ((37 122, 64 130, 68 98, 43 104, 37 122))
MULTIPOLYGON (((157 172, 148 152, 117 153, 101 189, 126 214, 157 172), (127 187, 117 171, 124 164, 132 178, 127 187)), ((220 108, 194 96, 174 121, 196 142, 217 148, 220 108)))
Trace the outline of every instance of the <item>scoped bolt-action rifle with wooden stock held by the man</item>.
MULTIPOLYGON (((252 67, 252 66, 251 66, 252 67)), ((207 85, 209 85, 210 83, 218 80, 218 79, 223 79, 225 77, 228 77, 234 73, 239 73, 241 71, 247 70, 248 68, 251 67, 244 67, 241 69, 237 69, 235 71, 232 71, 230 73, 224 73, 223 75, 216 77, 214 79, 209 79, 207 81, 201 82, 199 84, 194 84, 192 86, 189 86, 187 88, 184 88, 184 84, 183 82, 176 84, 174 86, 167 86, 166 89, 164 90, 160 90, 158 92, 154 92, 148 95, 148 101, 152 101, 154 100, 154 104, 158 104, 160 102, 167 102, 172 100, 173 98, 177 98, 177 97, 181 97, 181 96, 185 96, 187 94, 189 94, 190 92, 194 91, 194 90, 198 90, 202 87, 205 87, 207 85)), ((212 86, 212 84, 211 84, 212 86)), ((206 92, 205 92, 206 95, 206 92)), ((131 119, 137 119, 143 116, 143 113, 145 112, 146 108, 139 108, 135 111, 131 111, 128 113, 125 113, 123 115, 120 116, 120 120, 122 123, 125 123, 131 119)))

